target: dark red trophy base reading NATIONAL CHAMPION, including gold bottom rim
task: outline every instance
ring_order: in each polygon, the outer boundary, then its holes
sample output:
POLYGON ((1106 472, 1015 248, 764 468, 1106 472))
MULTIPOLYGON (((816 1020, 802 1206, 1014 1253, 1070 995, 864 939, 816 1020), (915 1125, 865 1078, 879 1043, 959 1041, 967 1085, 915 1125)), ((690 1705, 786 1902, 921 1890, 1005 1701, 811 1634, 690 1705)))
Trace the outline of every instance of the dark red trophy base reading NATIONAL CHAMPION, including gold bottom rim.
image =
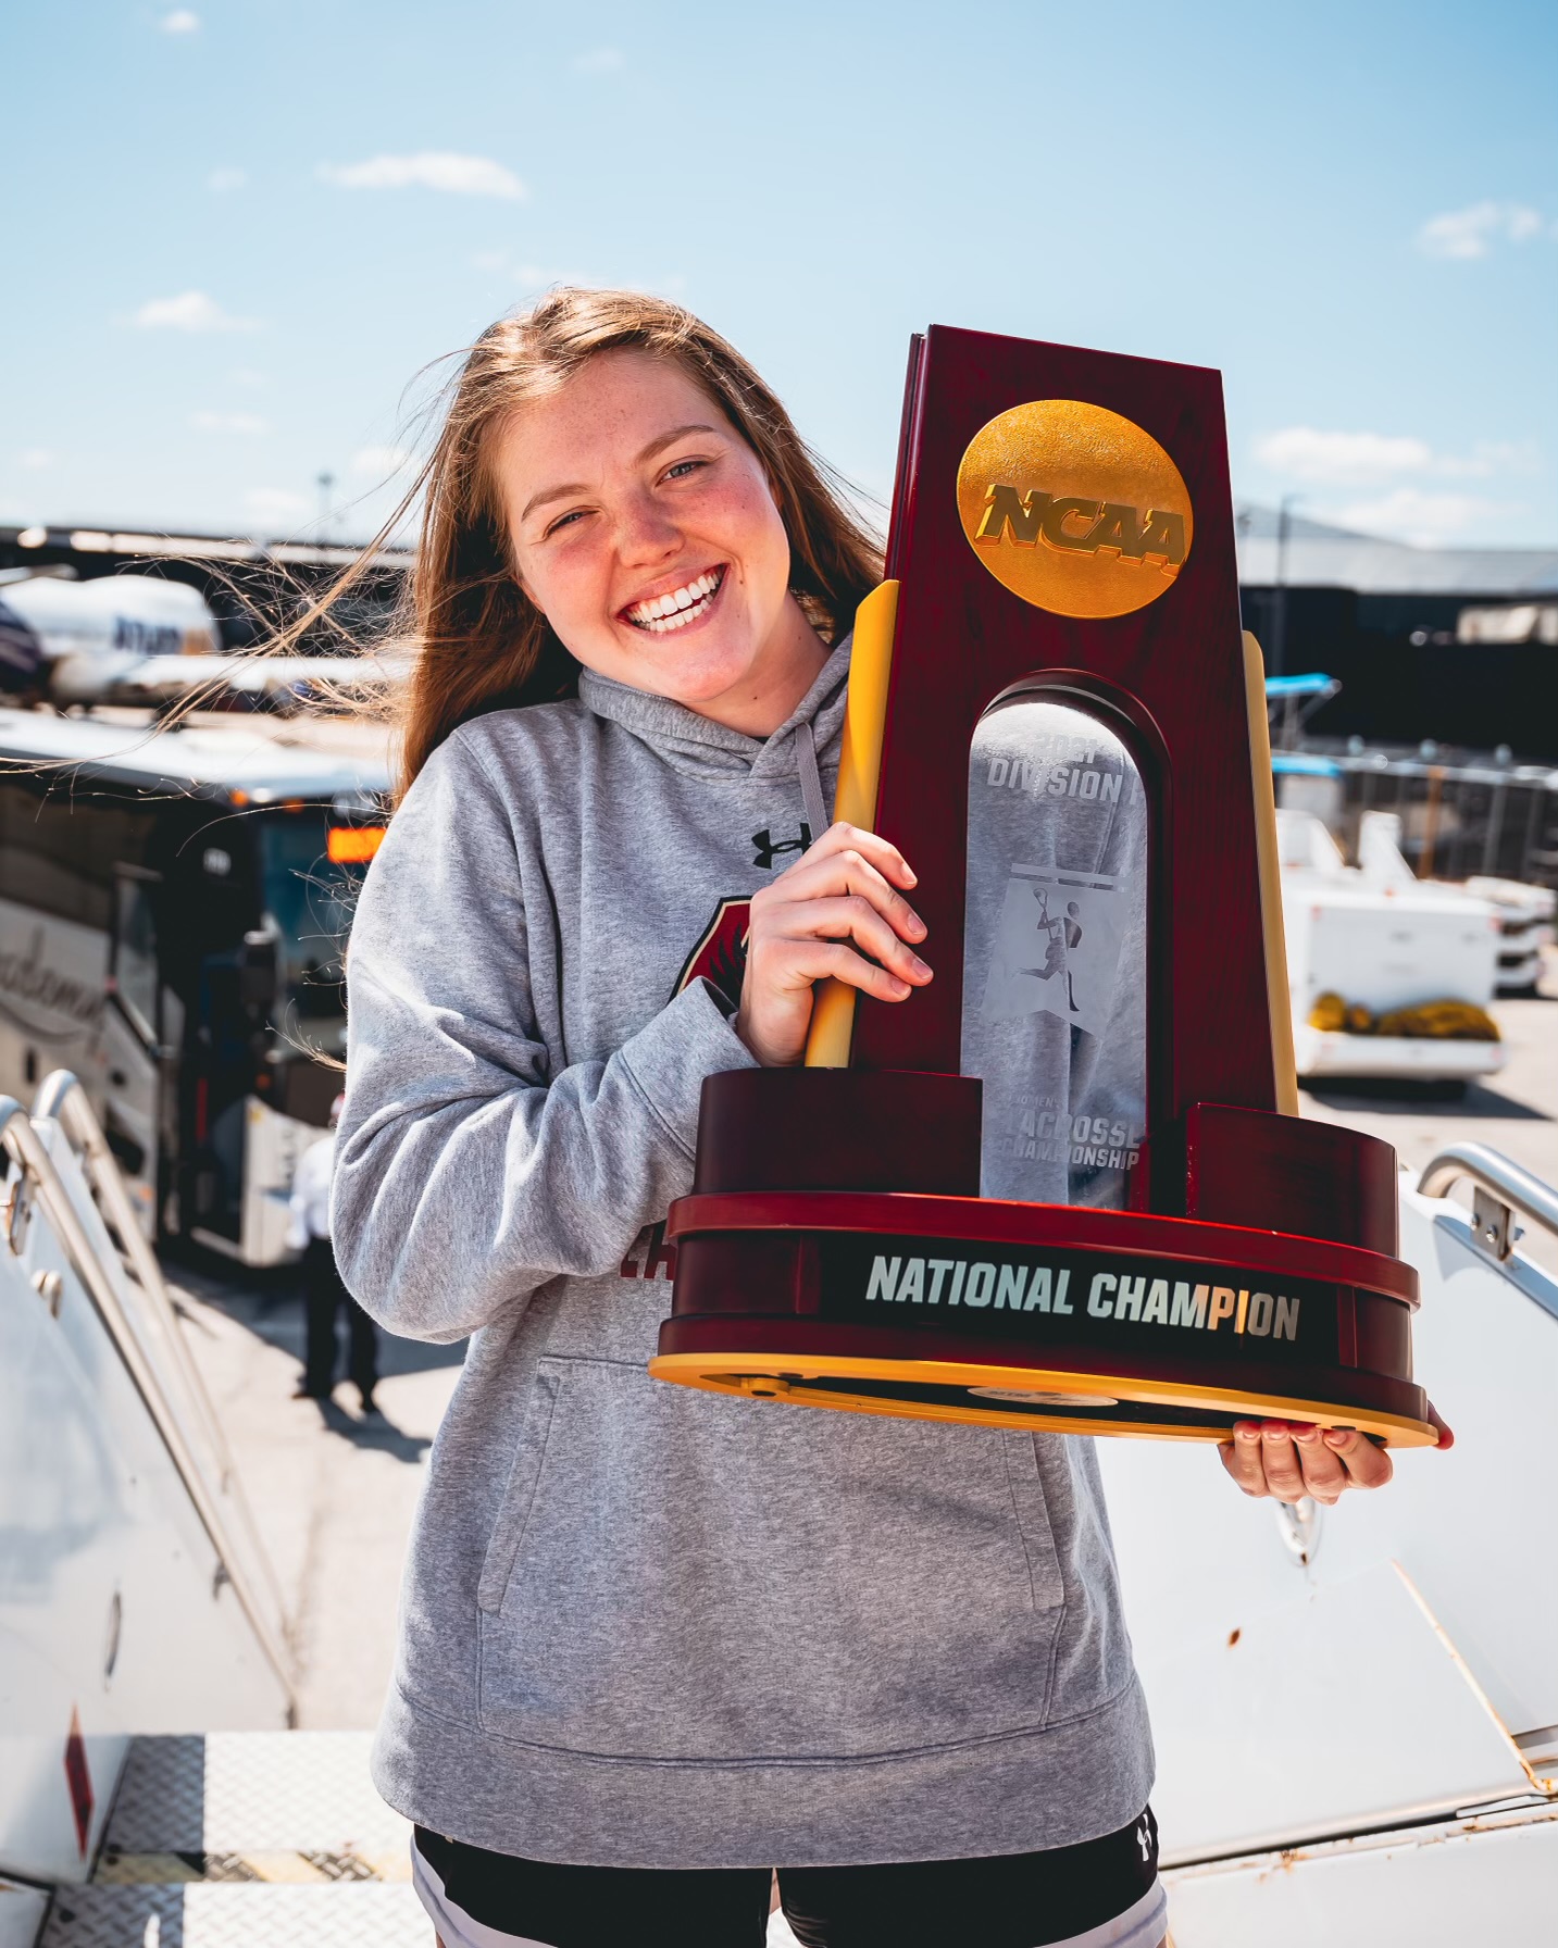
POLYGON ((980 1085, 740 1069, 703 1085, 649 1371, 740 1399, 1225 1442, 1239 1420, 1433 1445, 1385 1143, 1194 1105, 1184 1216, 982 1198, 980 1085))

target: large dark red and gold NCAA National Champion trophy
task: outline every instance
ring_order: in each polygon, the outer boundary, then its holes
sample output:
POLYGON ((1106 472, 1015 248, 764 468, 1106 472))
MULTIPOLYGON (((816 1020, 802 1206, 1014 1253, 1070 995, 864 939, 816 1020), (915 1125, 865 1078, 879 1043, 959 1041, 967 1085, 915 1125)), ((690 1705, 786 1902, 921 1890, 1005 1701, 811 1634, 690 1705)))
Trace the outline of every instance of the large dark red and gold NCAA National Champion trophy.
POLYGON ((703 1085, 650 1373, 802 1406, 1435 1442, 1391 1145, 1297 1116, 1215 372, 931 327, 835 816, 937 980, 703 1085), (960 947, 960 951, 958 951, 960 947))

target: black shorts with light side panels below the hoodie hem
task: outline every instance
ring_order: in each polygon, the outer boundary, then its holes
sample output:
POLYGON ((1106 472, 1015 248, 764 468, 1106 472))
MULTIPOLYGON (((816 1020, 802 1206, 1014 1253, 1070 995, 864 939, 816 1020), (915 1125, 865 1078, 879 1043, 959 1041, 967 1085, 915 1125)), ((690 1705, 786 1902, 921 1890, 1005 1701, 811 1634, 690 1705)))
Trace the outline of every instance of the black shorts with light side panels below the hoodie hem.
MULTIPOLYGON (((417 1827, 413 1874, 444 1948, 761 1948, 767 1868, 551 1866, 417 1827)), ((902 1866, 781 1866, 804 1948, 1157 1948, 1151 1808, 1118 1833, 1046 1853, 902 1866)))

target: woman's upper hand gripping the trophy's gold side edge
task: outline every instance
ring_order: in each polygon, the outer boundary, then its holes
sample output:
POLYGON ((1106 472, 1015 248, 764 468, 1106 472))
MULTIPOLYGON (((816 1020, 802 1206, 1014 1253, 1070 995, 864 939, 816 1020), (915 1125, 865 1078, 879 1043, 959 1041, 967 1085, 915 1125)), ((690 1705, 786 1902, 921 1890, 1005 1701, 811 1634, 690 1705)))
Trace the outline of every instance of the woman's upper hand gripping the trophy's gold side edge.
POLYGON ((806 1052, 814 982, 834 976, 878 1001, 906 1001, 931 980, 909 945, 925 939, 925 921, 898 890, 913 884, 896 845, 830 826, 752 896, 736 1034, 765 1069, 791 1068, 806 1052))

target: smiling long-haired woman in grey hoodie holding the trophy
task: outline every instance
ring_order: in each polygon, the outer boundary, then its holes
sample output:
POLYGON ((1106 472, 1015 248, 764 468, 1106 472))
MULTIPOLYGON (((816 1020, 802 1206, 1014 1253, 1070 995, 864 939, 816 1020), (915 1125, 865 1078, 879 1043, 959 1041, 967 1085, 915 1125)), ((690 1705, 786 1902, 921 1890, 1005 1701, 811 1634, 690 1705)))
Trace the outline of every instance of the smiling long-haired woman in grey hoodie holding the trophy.
POLYGON ((828 818, 871 540, 627 292, 487 331, 423 485, 331 1235, 471 1334, 374 1757, 442 1942, 760 1948, 777 1868, 808 1948, 1155 1948, 1087 1443, 647 1373, 705 1079, 797 1064, 826 976, 933 980, 909 863, 828 818))

